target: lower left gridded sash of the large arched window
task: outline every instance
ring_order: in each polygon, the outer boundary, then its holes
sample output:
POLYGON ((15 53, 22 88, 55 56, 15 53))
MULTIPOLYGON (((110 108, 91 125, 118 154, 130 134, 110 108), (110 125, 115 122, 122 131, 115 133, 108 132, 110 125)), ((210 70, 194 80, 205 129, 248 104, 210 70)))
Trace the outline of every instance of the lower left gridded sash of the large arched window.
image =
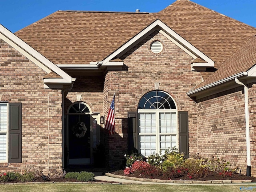
POLYGON ((140 153, 149 156, 156 151, 156 136, 140 136, 140 153))

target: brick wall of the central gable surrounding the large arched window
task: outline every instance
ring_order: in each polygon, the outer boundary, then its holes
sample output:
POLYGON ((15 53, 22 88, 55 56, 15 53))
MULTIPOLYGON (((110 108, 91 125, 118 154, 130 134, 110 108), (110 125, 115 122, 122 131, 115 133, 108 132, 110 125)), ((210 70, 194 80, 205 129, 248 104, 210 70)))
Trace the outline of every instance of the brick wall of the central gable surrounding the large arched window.
POLYGON ((198 72, 192 72, 193 61, 188 54, 170 42, 160 33, 153 33, 121 58, 124 68, 108 71, 104 84, 104 112, 108 111, 114 92, 116 92, 116 133, 109 137, 110 167, 122 166, 127 152, 127 112, 136 111, 138 102, 144 94, 155 90, 154 82, 160 82, 160 90, 168 92, 175 100, 178 111, 188 111, 190 151, 195 152, 196 103, 186 96, 196 84, 201 82, 198 72), (160 40, 164 50, 160 54, 150 51, 150 43, 160 40))

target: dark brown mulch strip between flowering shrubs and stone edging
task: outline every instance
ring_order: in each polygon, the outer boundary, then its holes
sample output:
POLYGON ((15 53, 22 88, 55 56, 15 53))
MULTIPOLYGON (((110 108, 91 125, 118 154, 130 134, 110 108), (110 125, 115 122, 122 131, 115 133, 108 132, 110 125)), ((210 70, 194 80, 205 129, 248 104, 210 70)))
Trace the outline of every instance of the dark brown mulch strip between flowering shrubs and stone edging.
MULTIPOLYGON (((138 177, 138 178, 150 178, 150 179, 163 179, 163 180, 170 180, 167 177, 164 176, 147 176, 147 175, 143 175, 140 173, 132 173, 129 175, 125 175, 124 174, 124 170, 119 170, 119 171, 114 171, 111 172, 112 174, 116 174, 116 175, 122 175, 122 176, 128 176, 128 177, 138 177)), ((224 180, 224 179, 232 179, 232 180, 252 180, 252 182, 256 182, 256 178, 255 177, 248 177, 246 175, 240 175, 240 174, 233 174, 232 177, 222 177, 217 173, 212 173, 212 175, 204 177, 204 178, 197 178, 197 179, 190 179, 188 178, 187 175, 183 175, 181 177, 178 178, 171 178, 171 180, 201 180, 201 181, 206 181, 206 180, 224 180)))

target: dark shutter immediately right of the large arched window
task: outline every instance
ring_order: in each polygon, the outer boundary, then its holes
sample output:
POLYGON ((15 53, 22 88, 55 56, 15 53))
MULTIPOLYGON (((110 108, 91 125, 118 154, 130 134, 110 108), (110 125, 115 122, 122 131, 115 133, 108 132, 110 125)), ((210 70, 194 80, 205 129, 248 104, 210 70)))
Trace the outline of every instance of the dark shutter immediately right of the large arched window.
POLYGON ((185 157, 188 158, 188 112, 179 112, 179 144, 180 153, 184 153, 185 157))

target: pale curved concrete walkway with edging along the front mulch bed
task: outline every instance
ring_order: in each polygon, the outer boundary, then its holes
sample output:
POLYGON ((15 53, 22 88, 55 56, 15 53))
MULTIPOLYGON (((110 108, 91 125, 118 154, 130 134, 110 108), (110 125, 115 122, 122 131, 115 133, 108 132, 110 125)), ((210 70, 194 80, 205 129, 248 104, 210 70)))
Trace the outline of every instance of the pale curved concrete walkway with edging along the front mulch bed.
POLYGON ((162 184, 162 185, 217 185, 217 186, 222 186, 222 185, 254 185, 256 186, 256 183, 251 183, 246 180, 216 180, 219 183, 212 183, 211 182, 204 182, 202 183, 201 181, 194 181, 195 183, 192 183, 192 181, 186 182, 184 180, 182 181, 176 181, 176 182, 166 182, 166 180, 151 180, 146 182, 143 178, 131 178, 131 177, 125 177, 125 176, 117 176, 114 174, 106 173, 106 175, 102 175, 102 172, 94 172, 95 179, 96 180, 102 180, 102 181, 108 181, 108 182, 119 182, 121 184, 162 184), (125 179, 124 179, 125 178, 125 179), (154 182, 155 181, 155 182, 154 182), (220 183, 220 181, 222 181, 220 183), (224 181, 224 182, 223 182, 224 181), (232 182, 233 181, 233 182, 232 182))

